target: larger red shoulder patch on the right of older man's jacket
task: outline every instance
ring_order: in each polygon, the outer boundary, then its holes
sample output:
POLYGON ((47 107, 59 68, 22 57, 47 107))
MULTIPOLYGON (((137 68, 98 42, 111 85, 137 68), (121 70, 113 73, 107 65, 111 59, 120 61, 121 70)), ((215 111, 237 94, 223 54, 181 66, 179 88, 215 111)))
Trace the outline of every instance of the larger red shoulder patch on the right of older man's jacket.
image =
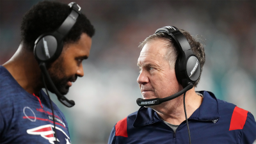
POLYGON ((235 107, 230 121, 229 131, 243 129, 248 111, 235 107))

